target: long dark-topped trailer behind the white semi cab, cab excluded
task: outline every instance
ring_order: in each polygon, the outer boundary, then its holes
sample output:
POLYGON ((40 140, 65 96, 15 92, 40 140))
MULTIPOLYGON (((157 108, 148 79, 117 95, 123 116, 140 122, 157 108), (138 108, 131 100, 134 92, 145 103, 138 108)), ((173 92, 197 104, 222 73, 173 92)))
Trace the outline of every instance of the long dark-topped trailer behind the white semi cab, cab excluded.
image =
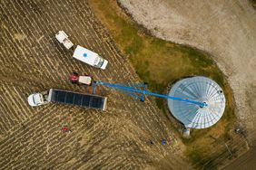
POLYGON ((107 98, 93 94, 83 94, 67 90, 51 89, 49 91, 49 96, 50 101, 56 103, 63 103, 68 105, 102 110, 106 108, 107 98))

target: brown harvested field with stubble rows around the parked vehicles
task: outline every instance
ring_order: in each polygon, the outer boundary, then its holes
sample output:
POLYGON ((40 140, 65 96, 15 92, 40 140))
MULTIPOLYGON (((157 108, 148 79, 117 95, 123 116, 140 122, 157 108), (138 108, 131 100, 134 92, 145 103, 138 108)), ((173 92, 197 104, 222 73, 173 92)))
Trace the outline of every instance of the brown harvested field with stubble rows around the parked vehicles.
POLYGON ((181 143, 153 99, 142 103, 100 88, 108 96, 104 112, 28 106, 26 98, 34 91, 88 91, 68 81, 72 71, 91 73, 95 80, 139 81, 86 1, 1 0, 0 20, 0 169, 189 168, 180 158, 181 143), (108 68, 100 71, 73 60, 72 52, 54 39, 58 30, 100 53, 108 68), (64 126, 73 132, 62 132, 64 126), (170 143, 162 146, 162 138, 170 143))

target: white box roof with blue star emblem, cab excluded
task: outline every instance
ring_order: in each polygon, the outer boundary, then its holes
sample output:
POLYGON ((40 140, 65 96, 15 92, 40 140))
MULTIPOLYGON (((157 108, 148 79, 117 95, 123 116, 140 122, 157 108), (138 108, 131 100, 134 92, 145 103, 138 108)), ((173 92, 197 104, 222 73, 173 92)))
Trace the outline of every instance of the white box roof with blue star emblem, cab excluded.
POLYGON ((77 47, 75 48, 73 57, 92 66, 94 66, 95 63, 97 63, 97 61, 99 60, 99 55, 97 53, 85 49, 80 45, 77 45, 77 47))

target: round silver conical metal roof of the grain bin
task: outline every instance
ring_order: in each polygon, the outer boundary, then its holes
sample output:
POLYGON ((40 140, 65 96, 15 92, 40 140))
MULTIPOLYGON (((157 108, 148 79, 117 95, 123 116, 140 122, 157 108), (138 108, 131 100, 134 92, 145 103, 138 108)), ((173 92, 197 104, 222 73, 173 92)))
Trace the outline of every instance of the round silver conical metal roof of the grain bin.
POLYGON ((221 87, 205 77, 192 77, 179 80, 169 92, 169 96, 205 102, 207 106, 168 99, 172 115, 188 128, 206 128, 222 118, 225 109, 225 96, 221 87))

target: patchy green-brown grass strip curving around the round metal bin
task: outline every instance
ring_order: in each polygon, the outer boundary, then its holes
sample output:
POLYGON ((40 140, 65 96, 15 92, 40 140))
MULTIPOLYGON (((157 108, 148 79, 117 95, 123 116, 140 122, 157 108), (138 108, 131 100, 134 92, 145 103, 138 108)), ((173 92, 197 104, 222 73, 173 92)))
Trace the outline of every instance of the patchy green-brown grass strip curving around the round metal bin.
MULTIPOLYGON (((188 147, 186 156, 194 165, 204 165, 204 162, 198 163, 202 157, 209 157, 209 160, 212 158, 211 153, 207 151, 208 147, 211 147, 209 136, 214 135, 220 140, 225 140, 229 137, 229 130, 235 120, 231 89, 224 80, 222 71, 205 52, 166 42, 143 33, 142 29, 138 29, 138 25, 120 11, 115 1, 91 0, 90 5, 102 23, 110 30, 114 42, 125 55, 129 56, 141 80, 148 82, 149 90, 164 93, 169 83, 193 75, 209 77, 222 87, 227 105, 221 121, 206 129, 192 130, 191 138, 182 138, 183 143, 188 147), (205 147, 202 150, 191 149, 198 146, 205 147)), ((165 100, 155 100, 163 114, 168 114, 165 100)))

